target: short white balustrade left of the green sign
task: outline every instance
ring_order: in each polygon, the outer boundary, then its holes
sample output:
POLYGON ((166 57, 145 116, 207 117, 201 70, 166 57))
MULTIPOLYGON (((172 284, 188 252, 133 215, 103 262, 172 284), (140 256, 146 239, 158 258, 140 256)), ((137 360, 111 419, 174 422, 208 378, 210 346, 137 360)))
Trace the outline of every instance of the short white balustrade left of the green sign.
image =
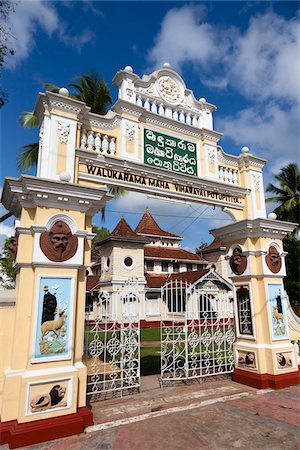
POLYGON ((93 130, 81 128, 80 148, 94 151, 103 155, 116 154, 116 138, 106 134, 97 133, 93 130))

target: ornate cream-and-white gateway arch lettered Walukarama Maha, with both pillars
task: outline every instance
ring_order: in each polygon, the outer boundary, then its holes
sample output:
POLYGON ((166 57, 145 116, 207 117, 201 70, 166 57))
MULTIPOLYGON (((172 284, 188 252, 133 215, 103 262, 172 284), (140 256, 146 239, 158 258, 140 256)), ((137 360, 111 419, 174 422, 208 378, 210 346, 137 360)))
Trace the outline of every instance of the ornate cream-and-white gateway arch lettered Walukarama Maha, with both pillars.
POLYGON ((234 379, 274 388, 298 381, 282 280, 282 238, 294 225, 266 218, 265 161, 218 146, 215 106, 196 100, 168 64, 140 78, 127 66, 105 115, 39 94, 37 176, 6 178, 2 203, 17 218, 16 308, 1 312, 2 442, 26 445, 92 423, 82 363, 85 270, 92 217, 110 187, 217 205, 235 218, 212 231, 227 246, 235 288, 234 379))

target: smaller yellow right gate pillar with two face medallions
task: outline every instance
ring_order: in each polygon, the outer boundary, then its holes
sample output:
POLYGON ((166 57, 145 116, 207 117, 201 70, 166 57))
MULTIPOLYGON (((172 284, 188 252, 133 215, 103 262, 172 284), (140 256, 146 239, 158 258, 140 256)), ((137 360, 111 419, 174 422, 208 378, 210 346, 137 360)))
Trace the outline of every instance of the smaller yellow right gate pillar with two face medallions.
POLYGON ((226 244, 228 274, 234 285, 233 379, 257 388, 277 389, 299 382, 283 286, 282 239, 294 227, 289 222, 257 218, 211 231, 226 244))

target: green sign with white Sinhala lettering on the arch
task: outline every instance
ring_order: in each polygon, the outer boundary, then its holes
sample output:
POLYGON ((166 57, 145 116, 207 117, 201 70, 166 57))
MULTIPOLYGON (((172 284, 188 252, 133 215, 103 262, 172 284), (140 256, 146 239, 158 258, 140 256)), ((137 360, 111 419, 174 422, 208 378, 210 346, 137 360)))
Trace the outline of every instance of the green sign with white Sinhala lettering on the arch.
POLYGON ((145 128, 144 163, 197 176, 196 144, 145 128))

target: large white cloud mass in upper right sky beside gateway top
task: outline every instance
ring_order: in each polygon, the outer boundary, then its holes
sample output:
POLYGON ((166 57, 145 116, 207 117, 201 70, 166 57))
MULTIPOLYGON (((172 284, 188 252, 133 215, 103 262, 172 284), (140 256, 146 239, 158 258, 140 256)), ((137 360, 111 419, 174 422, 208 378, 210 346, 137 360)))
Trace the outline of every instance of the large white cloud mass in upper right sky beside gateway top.
POLYGON ((203 8, 188 5, 166 14, 149 61, 155 68, 168 61, 178 71, 190 64, 203 84, 241 94, 247 107, 227 117, 220 111, 216 129, 268 159, 267 170, 276 173, 299 158, 299 52, 299 17, 267 11, 245 30, 212 27, 203 8))

